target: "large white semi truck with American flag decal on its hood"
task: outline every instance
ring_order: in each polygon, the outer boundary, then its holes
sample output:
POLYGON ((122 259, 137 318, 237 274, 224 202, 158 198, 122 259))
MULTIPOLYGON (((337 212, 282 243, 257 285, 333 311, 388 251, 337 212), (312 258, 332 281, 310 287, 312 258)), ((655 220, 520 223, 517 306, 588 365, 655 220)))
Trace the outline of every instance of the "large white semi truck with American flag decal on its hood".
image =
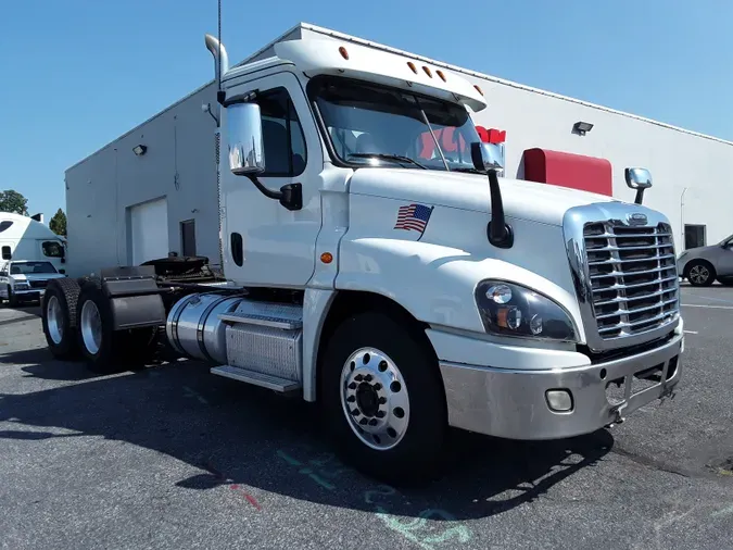
POLYGON ((164 333, 213 374, 317 401, 391 482, 432 472, 450 426, 564 438, 673 393, 679 277, 648 172, 625 171, 635 203, 505 179, 470 115, 486 100, 451 71, 316 39, 229 67, 206 46, 226 279, 172 258, 54 280, 56 357, 111 370, 164 333))

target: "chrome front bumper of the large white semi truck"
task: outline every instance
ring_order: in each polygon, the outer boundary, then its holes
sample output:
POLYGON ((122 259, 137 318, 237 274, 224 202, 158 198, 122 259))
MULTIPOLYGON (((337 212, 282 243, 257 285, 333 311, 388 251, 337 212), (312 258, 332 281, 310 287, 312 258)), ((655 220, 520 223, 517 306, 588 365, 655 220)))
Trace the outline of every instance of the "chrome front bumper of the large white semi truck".
POLYGON ((451 426, 508 439, 558 439, 590 434, 656 399, 672 393, 680 380, 682 334, 636 355, 606 363, 546 371, 516 371, 440 363, 451 426), (659 380, 636 391, 634 376, 655 370, 659 380), (606 387, 611 380, 623 388, 621 401, 611 404, 606 387), (571 409, 551 409, 547 390, 566 390, 571 409))

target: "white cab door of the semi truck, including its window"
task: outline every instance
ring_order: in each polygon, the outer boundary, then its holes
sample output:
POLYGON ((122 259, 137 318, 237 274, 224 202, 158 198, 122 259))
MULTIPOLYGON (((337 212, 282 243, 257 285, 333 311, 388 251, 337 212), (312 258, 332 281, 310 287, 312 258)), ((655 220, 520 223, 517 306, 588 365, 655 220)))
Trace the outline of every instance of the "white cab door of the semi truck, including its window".
POLYGON ((226 109, 223 109, 220 184, 224 270, 241 285, 304 288, 315 268, 321 225, 320 138, 300 82, 282 72, 235 86, 227 97, 256 91, 262 113, 265 172, 258 180, 279 190, 303 187, 303 208, 290 211, 252 182, 229 171, 226 109))

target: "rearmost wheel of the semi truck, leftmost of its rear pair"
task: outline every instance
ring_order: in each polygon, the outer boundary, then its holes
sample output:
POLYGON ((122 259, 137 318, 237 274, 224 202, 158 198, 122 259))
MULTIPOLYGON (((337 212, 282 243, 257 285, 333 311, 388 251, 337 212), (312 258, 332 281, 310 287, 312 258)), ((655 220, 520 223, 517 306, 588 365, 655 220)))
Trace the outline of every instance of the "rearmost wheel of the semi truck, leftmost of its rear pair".
POLYGON ((41 299, 41 324, 46 343, 58 359, 76 359, 76 302, 79 285, 74 279, 52 279, 41 299))

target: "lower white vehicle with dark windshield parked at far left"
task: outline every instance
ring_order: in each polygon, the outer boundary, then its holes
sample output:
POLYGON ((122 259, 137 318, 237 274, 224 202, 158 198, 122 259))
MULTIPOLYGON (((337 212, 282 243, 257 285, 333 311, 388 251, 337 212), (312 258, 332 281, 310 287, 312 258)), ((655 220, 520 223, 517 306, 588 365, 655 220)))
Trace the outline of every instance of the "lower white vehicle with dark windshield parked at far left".
POLYGON ((51 262, 10 260, 0 264, 0 300, 8 300, 11 308, 40 300, 49 280, 65 276, 51 262))

